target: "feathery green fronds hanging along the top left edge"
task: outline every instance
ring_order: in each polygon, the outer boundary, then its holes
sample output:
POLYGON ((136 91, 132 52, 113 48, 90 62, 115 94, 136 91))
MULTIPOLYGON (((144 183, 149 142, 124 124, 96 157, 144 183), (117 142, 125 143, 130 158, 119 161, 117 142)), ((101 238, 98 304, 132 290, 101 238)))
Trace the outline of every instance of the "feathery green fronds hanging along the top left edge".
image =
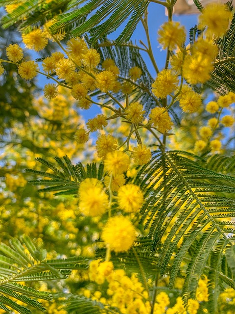
MULTIPOLYGON (((16 2, 1 1, 0 4, 12 3, 16 2)), ((57 16, 57 22, 50 27, 53 33, 70 32, 76 37, 88 32, 94 44, 128 20, 115 42, 120 44, 130 39, 148 3, 147 0, 25 0, 12 13, 6 14, 1 24, 7 28, 18 23, 19 29, 27 32, 57 16)))

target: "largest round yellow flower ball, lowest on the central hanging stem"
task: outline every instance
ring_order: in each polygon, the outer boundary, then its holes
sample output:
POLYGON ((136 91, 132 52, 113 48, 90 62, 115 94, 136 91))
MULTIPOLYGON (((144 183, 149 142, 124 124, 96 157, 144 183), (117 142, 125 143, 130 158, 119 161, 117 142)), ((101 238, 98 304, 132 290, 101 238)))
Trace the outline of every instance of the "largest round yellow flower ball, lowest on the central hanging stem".
POLYGON ((128 251, 136 239, 136 230, 132 222, 123 216, 108 219, 102 230, 101 238, 115 252, 128 251))

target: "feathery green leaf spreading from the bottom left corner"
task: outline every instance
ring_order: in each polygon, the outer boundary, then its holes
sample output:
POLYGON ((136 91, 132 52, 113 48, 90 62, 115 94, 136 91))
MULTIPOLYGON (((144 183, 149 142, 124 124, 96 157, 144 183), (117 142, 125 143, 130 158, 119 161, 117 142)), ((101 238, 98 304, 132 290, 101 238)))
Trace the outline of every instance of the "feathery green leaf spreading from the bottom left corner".
POLYGON ((87 268, 87 261, 79 257, 47 260, 42 241, 33 242, 26 235, 21 241, 10 240, 10 246, 0 243, 0 252, 0 308, 6 312, 11 312, 9 308, 12 308, 22 314, 32 313, 18 301, 45 312, 46 308, 35 298, 52 299, 49 292, 23 286, 20 282, 65 279, 71 269, 87 268))

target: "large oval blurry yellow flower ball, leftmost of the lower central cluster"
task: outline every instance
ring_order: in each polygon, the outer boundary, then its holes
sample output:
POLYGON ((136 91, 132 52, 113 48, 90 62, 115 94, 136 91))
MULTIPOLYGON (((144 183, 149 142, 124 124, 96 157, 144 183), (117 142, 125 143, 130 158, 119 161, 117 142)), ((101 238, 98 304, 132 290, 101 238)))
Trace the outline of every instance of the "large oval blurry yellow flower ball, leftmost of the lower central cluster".
POLYGON ((78 195, 79 210, 85 216, 101 216, 108 208, 108 195, 97 179, 87 178, 81 182, 78 195))

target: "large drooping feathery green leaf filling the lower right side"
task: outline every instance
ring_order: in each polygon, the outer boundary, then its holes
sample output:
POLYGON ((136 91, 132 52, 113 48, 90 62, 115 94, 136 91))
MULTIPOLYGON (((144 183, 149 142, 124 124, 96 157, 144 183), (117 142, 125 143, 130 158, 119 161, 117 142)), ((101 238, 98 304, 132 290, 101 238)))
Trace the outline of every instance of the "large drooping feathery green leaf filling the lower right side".
MULTIPOLYGON (((233 222, 227 220, 235 217, 235 178, 203 168, 200 163, 202 160, 183 152, 158 152, 141 168, 135 181, 145 190, 141 222, 146 221, 152 249, 159 255, 161 275, 169 271, 170 287, 182 262, 189 261, 183 289, 186 299, 195 295, 214 247, 221 240, 233 243, 227 235, 235 233, 233 222)), ((224 253, 217 256, 222 259, 224 253)))

